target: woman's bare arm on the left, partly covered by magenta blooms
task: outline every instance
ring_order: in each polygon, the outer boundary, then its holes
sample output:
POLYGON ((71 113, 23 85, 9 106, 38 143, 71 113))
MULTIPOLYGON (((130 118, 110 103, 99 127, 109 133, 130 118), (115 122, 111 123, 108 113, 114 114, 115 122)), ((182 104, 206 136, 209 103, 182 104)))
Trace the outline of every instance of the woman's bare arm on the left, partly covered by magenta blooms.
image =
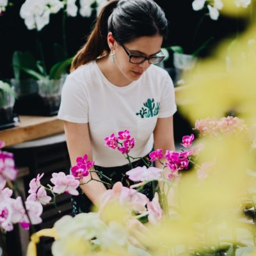
MULTIPOLYGON (((88 124, 76 124, 72 122, 64 122, 65 134, 67 139, 68 154, 72 166, 76 165, 76 158, 79 156, 84 156, 86 154, 88 159, 92 161, 92 144, 90 140, 90 133, 88 124)), ((92 173, 93 179, 99 179, 97 173, 92 173)), ((90 175, 84 177, 83 182, 90 180, 90 175)), ((88 198, 93 202, 93 204, 98 205, 99 199, 102 193, 106 191, 105 186, 98 181, 92 180, 88 184, 83 184, 80 186, 88 198)))

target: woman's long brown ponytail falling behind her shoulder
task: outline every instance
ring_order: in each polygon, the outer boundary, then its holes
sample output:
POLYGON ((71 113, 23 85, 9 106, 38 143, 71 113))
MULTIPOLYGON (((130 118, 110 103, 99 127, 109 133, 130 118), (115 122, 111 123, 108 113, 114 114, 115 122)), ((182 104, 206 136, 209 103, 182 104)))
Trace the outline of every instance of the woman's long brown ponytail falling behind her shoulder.
POLYGON ((113 12, 118 0, 109 1, 100 12, 96 20, 92 33, 88 37, 86 44, 77 52, 74 57, 70 72, 74 71, 79 66, 90 61, 96 60, 102 56, 104 52, 109 52, 108 47, 108 18, 113 12))

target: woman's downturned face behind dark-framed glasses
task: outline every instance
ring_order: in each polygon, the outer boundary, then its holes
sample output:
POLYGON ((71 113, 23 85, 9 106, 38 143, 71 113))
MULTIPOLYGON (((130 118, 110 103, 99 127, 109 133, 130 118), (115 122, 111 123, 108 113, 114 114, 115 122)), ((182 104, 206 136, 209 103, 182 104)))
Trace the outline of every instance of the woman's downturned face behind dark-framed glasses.
POLYGON ((125 79, 131 82, 136 81, 151 64, 148 63, 148 60, 139 64, 130 63, 128 54, 146 57, 159 56, 162 42, 163 36, 160 35, 141 36, 124 45, 116 44, 115 42, 116 67, 120 70, 120 73, 125 79))

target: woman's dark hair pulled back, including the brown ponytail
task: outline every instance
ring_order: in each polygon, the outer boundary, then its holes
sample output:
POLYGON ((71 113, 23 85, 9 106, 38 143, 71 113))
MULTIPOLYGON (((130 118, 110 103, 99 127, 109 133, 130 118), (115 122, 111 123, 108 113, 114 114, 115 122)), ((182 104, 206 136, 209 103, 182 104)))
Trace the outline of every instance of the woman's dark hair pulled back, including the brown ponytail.
POLYGON ((168 21, 153 0, 109 1, 100 12, 86 44, 74 57, 70 71, 110 51, 109 31, 118 44, 131 42, 140 36, 161 35, 165 38, 168 21))

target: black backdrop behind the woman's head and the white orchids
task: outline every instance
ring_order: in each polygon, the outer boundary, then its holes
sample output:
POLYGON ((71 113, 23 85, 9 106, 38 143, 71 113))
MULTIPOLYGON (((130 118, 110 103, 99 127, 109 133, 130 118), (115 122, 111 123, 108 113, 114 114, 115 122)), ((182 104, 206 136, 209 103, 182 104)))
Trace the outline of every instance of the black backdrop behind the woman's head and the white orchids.
MULTIPOLYGON (((62 44, 61 11, 52 14, 50 23, 41 31, 28 30, 24 20, 20 18, 19 10, 24 0, 12 0, 13 6, 8 6, 6 12, 0 17, 0 79, 13 77, 12 54, 14 51, 29 51, 37 60, 41 59, 38 42, 42 45, 47 70, 56 62, 54 60, 54 43, 62 44)), ((78 2, 78 0, 77 0, 78 2)), ((204 15, 207 10, 195 12, 191 0, 156 0, 166 13, 170 22, 170 33, 163 46, 182 45, 184 52, 192 53, 211 36, 214 39, 200 56, 204 58, 211 54, 214 46, 223 38, 235 36, 237 31, 245 28, 244 20, 230 19, 220 15, 218 20, 211 20, 204 15), (202 18, 203 17, 203 18, 202 18), (201 25, 195 36, 196 26, 200 20, 201 25)), ((66 35, 68 57, 74 56, 76 51, 84 44, 86 36, 90 33, 94 17, 84 18, 67 17, 66 35)), ((166 62, 166 67, 172 67, 172 55, 166 62)))

